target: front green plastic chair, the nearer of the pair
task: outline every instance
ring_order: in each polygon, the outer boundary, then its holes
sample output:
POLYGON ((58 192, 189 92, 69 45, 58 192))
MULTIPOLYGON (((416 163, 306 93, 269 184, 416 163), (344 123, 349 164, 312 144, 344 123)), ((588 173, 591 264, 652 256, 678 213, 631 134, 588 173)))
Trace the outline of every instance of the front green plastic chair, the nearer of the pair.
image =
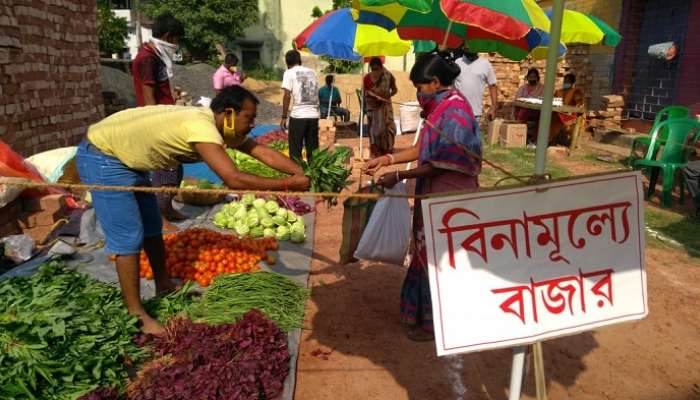
MULTIPOLYGON (((688 156, 695 150, 695 143, 698 141, 698 138, 700 138, 700 122, 689 118, 664 121, 651 132, 651 141, 646 156, 644 159, 632 162, 632 167, 635 170, 648 169, 651 172, 647 199, 650 199, 656 192, 656 182, 659 179, 659 173, 662 173, 661 205, 663 207, 671 205, 671 194, 676 182, 676 172, 688 163, 688 156), (663 145, 659 143, 662 132, 667 134, 663 145), (657 160, 656 156, 661 146, 663 146, 663 150, 657 160)), ((684 180, 681 174, 679 181, 681 204, 685 202, 684 180)))

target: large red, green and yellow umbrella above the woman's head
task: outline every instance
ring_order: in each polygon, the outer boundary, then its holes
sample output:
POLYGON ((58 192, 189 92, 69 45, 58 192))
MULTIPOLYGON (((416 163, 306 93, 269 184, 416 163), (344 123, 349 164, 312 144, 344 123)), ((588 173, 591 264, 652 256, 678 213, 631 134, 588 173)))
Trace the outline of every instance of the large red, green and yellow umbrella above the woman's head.
POLYGON ((353 3, 360 23, 396 27, 402 39, 430 40, 451 48, 466 42, 473 51, 496 52, 516 61, 527 57, 542 42, 541 33, 549 30, 549 19, 533 0, 434 0, 425 13, 397 2, 367 6, 366 1, 353 3))

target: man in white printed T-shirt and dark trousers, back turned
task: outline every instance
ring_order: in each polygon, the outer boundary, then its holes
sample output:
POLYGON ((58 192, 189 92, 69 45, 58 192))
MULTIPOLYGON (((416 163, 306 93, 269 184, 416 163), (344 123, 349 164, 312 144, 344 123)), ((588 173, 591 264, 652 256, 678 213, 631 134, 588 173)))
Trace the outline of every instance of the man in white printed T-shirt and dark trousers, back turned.
POLYGON ((289 156, 301 160, 301 149, 306 148, 306 159, 311 161, 311 153, 318 148, 318 77, 314 70, 301 66, 301 54, 290 50, 284 56, 287 71, 282 78, 284 100, 282 101, 282 122, 280 127, 287 130, 289 117, 289 156), (291 114, 290 100, 294 98, 291 114))

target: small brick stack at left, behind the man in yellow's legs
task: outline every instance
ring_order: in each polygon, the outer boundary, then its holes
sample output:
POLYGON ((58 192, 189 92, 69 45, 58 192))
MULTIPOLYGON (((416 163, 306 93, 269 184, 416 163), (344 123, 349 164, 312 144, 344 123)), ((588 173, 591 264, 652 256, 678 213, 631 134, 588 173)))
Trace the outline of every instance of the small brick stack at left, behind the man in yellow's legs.
POLYGON ((65 218, 66 199, 52 194, 22 200, 21 212, 16 214, 17 225, 38 244, 44 244, 58 222, 65 218))

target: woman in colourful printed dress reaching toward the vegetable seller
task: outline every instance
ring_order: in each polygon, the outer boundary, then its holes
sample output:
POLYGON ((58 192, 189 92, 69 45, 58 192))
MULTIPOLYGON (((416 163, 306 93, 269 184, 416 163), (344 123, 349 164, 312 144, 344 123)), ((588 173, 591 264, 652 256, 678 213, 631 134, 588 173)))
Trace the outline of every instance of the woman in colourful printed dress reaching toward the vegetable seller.
MULTIPOLYGON (((481 172, 481 137, 469 102, 452 87, 459 67, 438 54, 420 58, 411 70, 425 123, 418 143, 397 154, 368 161, 366 173, 381 167, 418 161, 408 171, 388 172, 378 183, 391 188, 404 179, 416 179, 416 194, 476 189, 481 172)), ((413 212, 412 261, 401 291, 401 319, 407 336, 433 340, 433 316, 428 282, 425 234, 420 200, 413 212)))

